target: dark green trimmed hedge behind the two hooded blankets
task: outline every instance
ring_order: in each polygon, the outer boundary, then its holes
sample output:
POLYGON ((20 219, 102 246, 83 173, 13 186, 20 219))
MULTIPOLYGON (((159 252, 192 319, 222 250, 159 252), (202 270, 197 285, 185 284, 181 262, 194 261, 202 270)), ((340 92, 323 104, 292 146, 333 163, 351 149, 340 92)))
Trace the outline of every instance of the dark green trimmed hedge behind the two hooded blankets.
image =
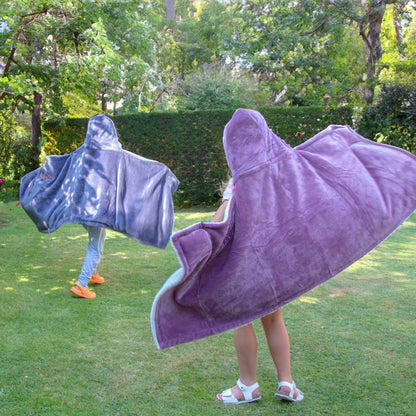
MULTIPOLYGON (((263 108, 269 127, 297 146, 330 124, 351 124, 352 109, 342 107, 263 108)), ((112 117, 125 150, 167 165, 180 181, 176 206, 213 205, 229 171, 222 145, 224 127, 234 110, 139 113, 112 117)), ((70 153, 84 142, 88 119, 65 126, 46 123, 46 154, 70 153)), ((132 172, 134 174, 134 172, 132 172)))

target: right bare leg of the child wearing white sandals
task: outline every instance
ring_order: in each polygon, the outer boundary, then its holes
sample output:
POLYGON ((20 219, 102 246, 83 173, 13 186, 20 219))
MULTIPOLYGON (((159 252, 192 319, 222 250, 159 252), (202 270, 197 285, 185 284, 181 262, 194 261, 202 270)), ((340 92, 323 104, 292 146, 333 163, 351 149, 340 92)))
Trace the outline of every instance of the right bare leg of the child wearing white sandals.
MULTIPOLYGON (((272 312, 269 315, 261 318, 264 332, 266 334, 267 343, 270 354, 277 370, 277 378, 280 381, 293 382, 290 371, 290 343, 289 336, 286 330, 286 325, 283 321, 282 309, 272 312)), ((281 392, 290 393, 290 388, 283 386, 280 388, 281 392)), ((296 398, 298 392, 294 393, 296 398)))

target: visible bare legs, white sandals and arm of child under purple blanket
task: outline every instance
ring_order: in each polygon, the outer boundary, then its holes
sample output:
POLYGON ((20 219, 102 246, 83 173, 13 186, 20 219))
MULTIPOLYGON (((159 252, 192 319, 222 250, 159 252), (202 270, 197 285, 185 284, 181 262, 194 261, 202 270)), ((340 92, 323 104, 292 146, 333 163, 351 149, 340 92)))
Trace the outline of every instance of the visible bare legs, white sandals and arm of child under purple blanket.
MULTIPOLYGON (((221 206, 213 217, 214 222, 224 218, 228 199, 234 190, 232 179, 224 192, 221 206)), ((261 318, 264 333, 267 338, 270 354, 276 366, 279 380, 275 396, 292 402, 303 399, 303 393, 296 388, 290 371, 290 343, 283 321, 282 309, 261 318)), ((250 323, 234 330, 234 345, 237 354, 240 378, 237 385, 217 395, 217 399, 225 404, 242 404, 261 399, 257 383, 257 338, 253 325, 250 323)))

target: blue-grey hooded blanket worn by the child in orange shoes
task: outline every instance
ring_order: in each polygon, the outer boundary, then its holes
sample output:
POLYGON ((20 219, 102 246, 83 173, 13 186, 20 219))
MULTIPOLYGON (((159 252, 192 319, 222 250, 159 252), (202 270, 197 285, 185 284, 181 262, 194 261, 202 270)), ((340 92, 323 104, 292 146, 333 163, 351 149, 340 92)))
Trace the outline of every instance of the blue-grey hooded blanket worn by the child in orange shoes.
POLYGON ((22 178, 20 202, 44 233, 77 223, 165 248, 178 184, 164 164, 123 150, 112 120, 98 114, 89 120, 82 146, 48 156, 43 167, 22 178))

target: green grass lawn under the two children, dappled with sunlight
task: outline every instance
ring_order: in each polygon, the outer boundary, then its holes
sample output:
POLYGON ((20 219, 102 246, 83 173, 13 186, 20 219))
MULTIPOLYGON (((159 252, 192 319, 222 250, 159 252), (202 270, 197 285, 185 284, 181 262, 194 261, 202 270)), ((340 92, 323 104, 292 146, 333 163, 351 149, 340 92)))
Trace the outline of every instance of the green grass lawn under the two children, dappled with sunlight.
MULTIPOLYGON (((212 210, 176 212, 175 230, 212 210)), ((70 292, 87 234, 39 233, 0 202, 1 415, 416 415, 416 214, 349 269, 285 307, 301 403, 273 397, 259 326, 263 399, 224 406, 238 377, 232 333, 158 351, 153 298, 178 268, 171 246, 107 233, 97 298, 70 292)))

